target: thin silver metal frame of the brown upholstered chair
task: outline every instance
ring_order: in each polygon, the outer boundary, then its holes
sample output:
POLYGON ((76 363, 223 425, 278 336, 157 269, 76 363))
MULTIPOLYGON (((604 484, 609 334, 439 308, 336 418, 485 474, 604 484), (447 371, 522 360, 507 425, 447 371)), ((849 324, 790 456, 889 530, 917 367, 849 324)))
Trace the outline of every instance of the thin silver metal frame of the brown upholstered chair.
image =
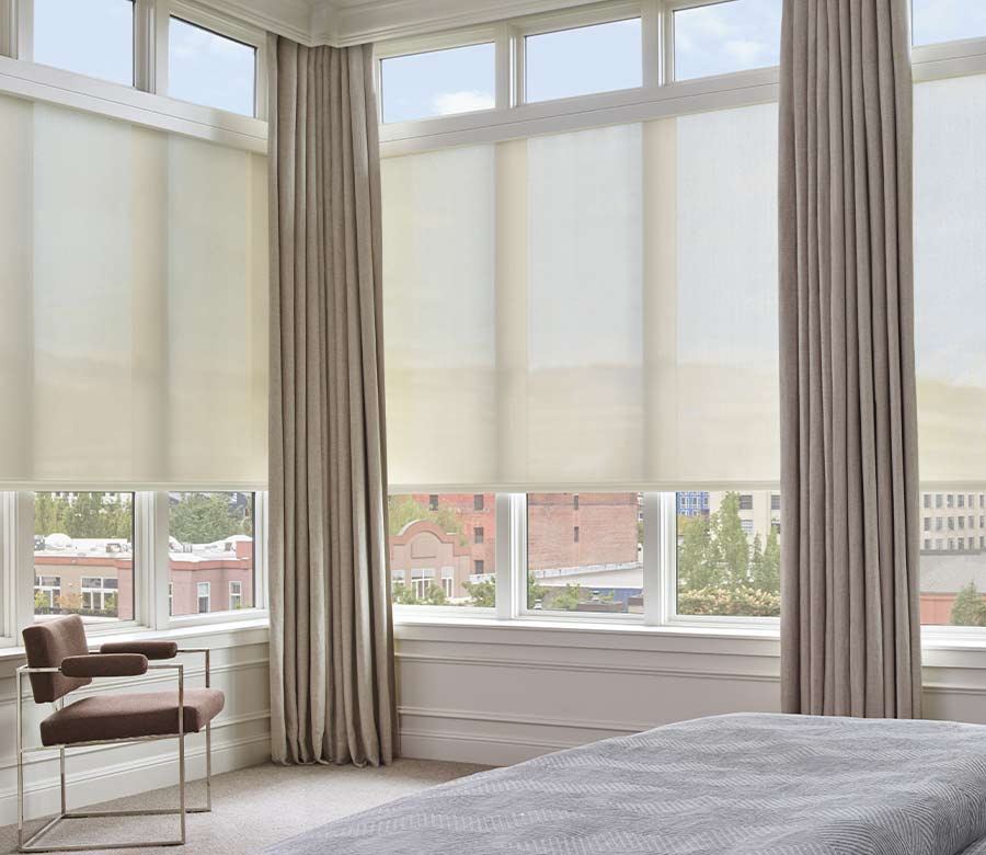
MULTIPOLYGON (((210 686, 209 651, 207 648, 184 648, 177 651, 182 653, 202 653, 205 657, 205 684, 210 686)), ((190 808, 185 805, 185 666, 181 662, 169 664, 148 664, 148 671, 176 671, 177 672, 177 709, 179 732, 151 737, 134 737, 129 739, 92 740, 90 742, 71 742, 60 745, 24 745, 23 734, 23 704, 24 694, 22 683, 25 674, 60 673, 60 668, 28 668, 22 665, 16 670, 16 727, 18 727, 18 852, 91 852, 99 850, 142 848, 149 846, 183 846, 185 844, 185 816, 188 813, 208 813, 213 810, 213 723, 206 723, 206 803, 204 807, 190 808), (164 739, 176 739, 179 743, 179 807, 157 810, 76 810, 70 811, 66 798, 65 757, 66 749, 88 748, 92 745, 128 745, 140 742, 157 742, 164 739), (24 839, 24 756, 32 752, 58 751, 58 779, 61 793, 61 810, 58 816, 46 822, 26 840, 24 839), (180 835, 173 840, 139 841, 133 843, 93 843, 93 844, 67 844, 45 845, 38 843, 41 837, 55 829, 62 820, 88 819, 92 817, 160 817, 177 814, 180 835)), ((122 677, 112 677, 119 680, 122 677)), ((54 704, 55 709, 65 707, 65 698, 61 697, 54 704)))

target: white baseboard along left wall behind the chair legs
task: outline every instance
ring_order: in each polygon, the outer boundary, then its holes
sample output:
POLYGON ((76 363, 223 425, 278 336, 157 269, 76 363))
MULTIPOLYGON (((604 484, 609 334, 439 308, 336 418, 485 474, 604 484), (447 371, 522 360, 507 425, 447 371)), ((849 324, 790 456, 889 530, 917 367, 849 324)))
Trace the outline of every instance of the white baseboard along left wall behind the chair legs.
MULTIPOLYGON (((196 739, 195 743, 200 742, 196 739)), ((186 743, 186 762, 190 774, 197 776, 204 768, 205 745, 186 743)), ((173 741, 160 743, 162 750, 151 757, 128 760, 79 774, 68 775, 68 800, 70 808, 84 807, 101 801, 147 793, 177 783, 177 749, 173 741)), ((69 755, 71 757, 71 755, 69 755)), ((246 766, 255 766, 271 759, 271 736, 260 733, 239 739, 213 742, 213 774, 232 772, 246 766)), ((69 760, 69 764, 71 759, 69 760)), ((69 770, 71 766, 69 765, 69 770)), ((199 795, 199 787, 192 783, 191 800, 199 795)), ((0 824, 18 821, 16 789, 0 793, 0 824)), ((25 816, 37 819, 56 813, 60 805, 57 776, 34 782, 27 787, 25 816)))

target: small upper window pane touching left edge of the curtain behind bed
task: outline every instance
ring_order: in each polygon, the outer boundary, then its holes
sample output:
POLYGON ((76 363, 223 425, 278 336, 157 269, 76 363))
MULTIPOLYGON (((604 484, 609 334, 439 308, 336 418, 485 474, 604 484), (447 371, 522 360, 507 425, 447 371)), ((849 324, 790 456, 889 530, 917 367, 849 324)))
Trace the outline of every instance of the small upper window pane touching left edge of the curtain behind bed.
POLYGON ((674 13, 675 80, 780 61, 781 0, 729 0, 674 13))

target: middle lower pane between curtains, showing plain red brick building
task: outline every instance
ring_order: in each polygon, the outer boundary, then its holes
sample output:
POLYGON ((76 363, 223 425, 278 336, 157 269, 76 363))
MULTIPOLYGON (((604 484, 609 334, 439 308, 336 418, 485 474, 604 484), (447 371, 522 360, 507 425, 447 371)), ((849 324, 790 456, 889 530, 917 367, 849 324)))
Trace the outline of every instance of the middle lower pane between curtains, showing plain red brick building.
POLYGON ((574 613, 640 612, 643 526, 639 493, 581 493, 578 528, 571 493, 527 497, 527 607, 574 613), (572 532, 584 531, 584 535, 572 532))

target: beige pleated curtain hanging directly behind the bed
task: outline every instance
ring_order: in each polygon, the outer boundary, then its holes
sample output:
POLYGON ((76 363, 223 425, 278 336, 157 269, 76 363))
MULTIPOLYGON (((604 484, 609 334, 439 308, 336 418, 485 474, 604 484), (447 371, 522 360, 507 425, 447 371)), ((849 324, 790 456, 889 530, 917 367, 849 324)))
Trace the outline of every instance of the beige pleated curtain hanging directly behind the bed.
POLYGON ((906 0, 784 0, 789 713, 920 715, 908 44, 906 0))

